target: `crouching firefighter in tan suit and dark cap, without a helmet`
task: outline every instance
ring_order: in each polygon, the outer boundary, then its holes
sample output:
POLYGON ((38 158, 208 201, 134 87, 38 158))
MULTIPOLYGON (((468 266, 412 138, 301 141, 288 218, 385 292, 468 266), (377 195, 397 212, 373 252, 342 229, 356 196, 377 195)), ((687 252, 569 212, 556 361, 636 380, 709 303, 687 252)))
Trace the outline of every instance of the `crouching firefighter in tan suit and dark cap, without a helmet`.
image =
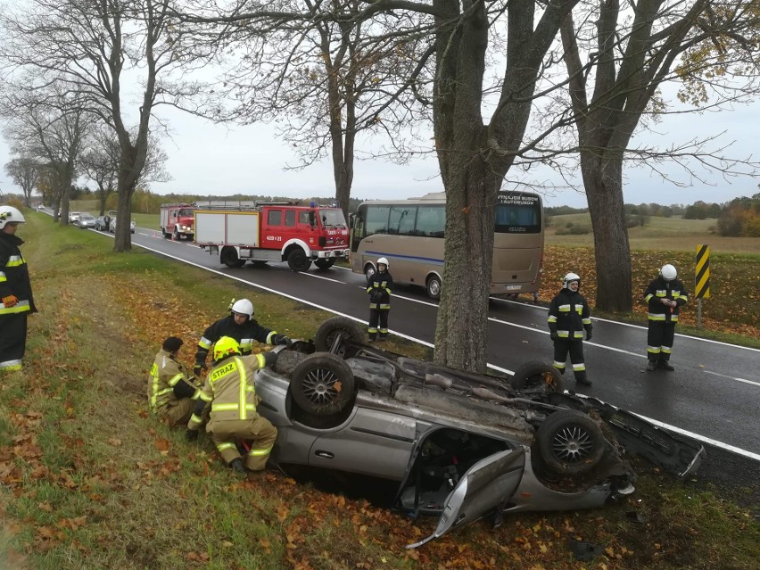
POLYGON ((169 336, 156 354, 148 376, 148 406, 170 427, 186 425, 201 394, 195 377, 178 361, 182 339, 169 336))

